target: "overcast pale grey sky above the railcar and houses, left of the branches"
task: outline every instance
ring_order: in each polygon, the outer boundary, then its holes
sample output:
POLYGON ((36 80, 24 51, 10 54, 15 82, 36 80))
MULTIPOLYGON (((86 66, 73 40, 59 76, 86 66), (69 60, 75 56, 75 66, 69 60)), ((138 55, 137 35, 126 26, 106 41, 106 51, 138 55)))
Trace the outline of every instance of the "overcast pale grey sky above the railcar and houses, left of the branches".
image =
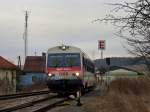
MULTIPOLYGON (((119 2, 121 0, 117 0, 119 2)), ((24 11, 29 13, 29 55, 62 43, 99 58, 98 40, 106 40, 104 57, 129 56, 110 24, 91 23, 104 17, 116 0, 0 0, 0 55, 12 60, 24 55, 24 11)))

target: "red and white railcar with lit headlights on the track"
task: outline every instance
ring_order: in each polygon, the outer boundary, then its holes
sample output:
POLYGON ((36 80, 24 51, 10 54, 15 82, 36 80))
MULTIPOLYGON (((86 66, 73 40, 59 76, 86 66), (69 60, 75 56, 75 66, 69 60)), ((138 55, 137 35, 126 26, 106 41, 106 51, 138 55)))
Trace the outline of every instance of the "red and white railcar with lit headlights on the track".
POLYGON ((74 94, 96 85, 94 63, 73 46, 56 46, 47 52, 47 85, 56 93, 74 94))

